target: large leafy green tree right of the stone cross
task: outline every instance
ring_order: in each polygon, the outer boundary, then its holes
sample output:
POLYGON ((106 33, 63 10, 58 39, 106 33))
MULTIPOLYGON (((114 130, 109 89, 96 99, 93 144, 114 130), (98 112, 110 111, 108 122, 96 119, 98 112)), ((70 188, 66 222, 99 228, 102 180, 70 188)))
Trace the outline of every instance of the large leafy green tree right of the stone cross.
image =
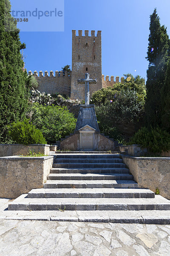
POLYGON ((143 120, 146 95, 143 78, 131 74, 124 76, 124 83, 102 88, 94 92, 91 98, 100 131, 119 142, 122 141, 122 135, 126 135, 125 129, 134 125, 138 128, 139 122, 143 120))

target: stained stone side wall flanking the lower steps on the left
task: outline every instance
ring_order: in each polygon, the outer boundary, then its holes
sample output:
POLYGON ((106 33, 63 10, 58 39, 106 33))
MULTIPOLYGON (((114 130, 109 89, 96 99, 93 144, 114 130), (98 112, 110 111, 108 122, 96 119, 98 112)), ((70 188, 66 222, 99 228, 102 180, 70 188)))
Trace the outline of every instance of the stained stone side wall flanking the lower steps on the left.
POLYGON ((31 189, 43 187, 54 156, 0 157, 0 198, 17 198, 31 189))

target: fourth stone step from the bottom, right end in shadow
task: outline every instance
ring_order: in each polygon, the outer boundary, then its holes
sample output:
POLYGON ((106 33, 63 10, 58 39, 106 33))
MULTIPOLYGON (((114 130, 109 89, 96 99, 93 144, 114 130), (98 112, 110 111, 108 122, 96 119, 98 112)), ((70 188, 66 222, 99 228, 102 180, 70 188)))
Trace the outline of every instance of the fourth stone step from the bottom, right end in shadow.
POLYGON ((47 180, 44 183, 45 189, 61 188, 138 188, 138 183, 134 180, 47 180))

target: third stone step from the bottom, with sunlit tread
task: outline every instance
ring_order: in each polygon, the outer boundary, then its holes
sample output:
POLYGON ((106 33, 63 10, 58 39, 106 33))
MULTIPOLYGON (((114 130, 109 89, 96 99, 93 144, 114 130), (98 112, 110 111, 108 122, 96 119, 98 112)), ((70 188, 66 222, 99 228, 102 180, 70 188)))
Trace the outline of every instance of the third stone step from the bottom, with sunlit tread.
POLYGON ((28 198, 154 198, 150 189, 32 189, 28 198))

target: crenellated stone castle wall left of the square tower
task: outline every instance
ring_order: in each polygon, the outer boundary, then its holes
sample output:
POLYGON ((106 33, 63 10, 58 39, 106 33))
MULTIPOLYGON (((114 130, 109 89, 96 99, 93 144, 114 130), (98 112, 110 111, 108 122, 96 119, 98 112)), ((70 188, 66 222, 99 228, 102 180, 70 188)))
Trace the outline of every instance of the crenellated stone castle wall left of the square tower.
MULTIPOLYGON (((28 75, 31 76, 32 72, 29 71, 28 75)), ((71 91, 71 72, 68 76, 68 72, 55 71, 55 76, 53 71, 50 71, 50 76, 48 76, 48 72, 45 71, 44 75, 42 71, 39 72, 39 76, 37 71, 34 71, 33 76, 38 82, 37 90, 41 93, 50 93, 52 95, 59 93, 59 94, 66 94, 70 96, 71 91)))

